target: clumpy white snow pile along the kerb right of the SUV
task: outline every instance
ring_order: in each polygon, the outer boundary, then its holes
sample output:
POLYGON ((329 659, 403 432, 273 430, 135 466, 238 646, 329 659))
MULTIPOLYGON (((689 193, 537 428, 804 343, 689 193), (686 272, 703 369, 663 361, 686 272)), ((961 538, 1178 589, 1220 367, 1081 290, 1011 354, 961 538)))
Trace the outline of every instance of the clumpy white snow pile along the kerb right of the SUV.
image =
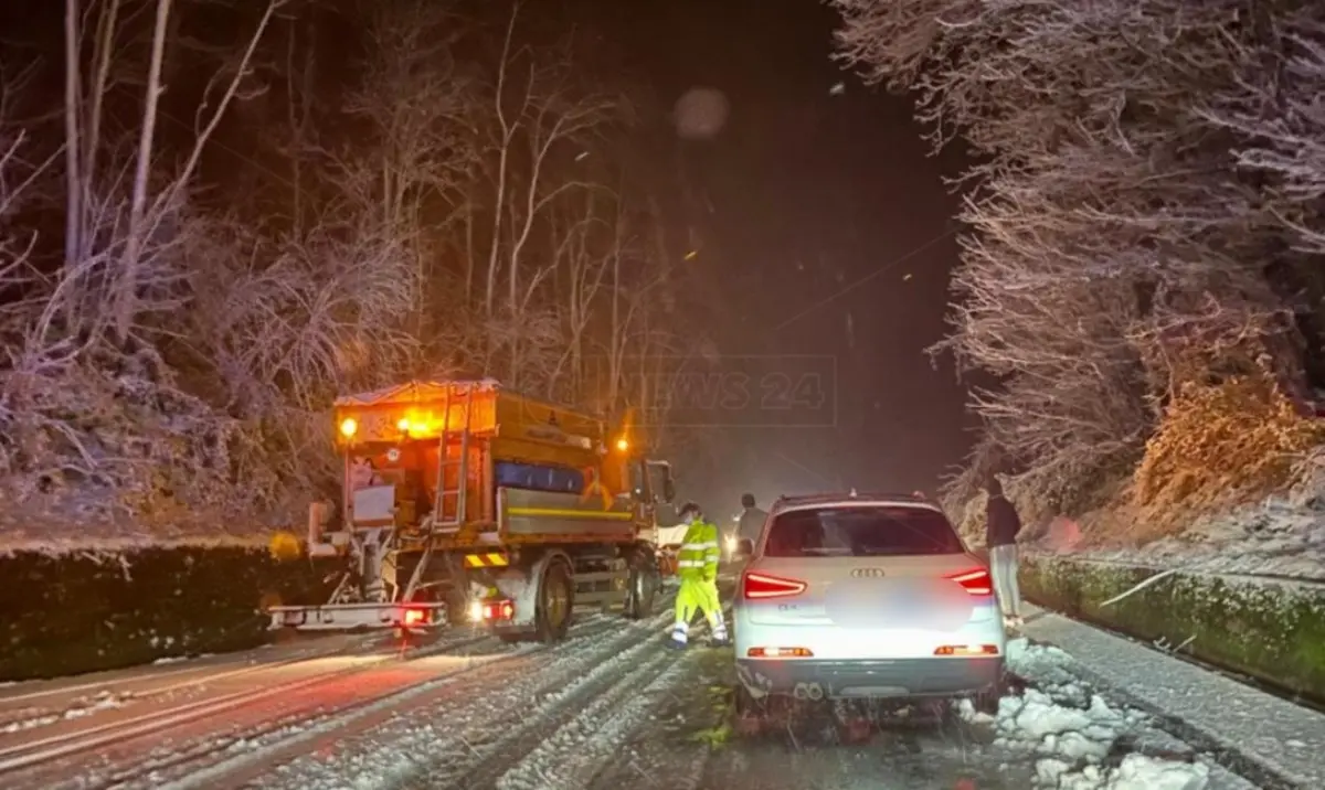
POLYGON ((1068 670, 1072 660, 1056 647, 1008 643, 1008 668, 1039 685, 999 700, 996 716, 959 705, 971 724, 991 726, 994 748, 1030 753, 1039 787, 1064 790, 1204 790, 1210 769, 1202 764, 1128 754, 1113 760, 1120 741, 1147 728, 1137 711, 1114 708, 1068 670))

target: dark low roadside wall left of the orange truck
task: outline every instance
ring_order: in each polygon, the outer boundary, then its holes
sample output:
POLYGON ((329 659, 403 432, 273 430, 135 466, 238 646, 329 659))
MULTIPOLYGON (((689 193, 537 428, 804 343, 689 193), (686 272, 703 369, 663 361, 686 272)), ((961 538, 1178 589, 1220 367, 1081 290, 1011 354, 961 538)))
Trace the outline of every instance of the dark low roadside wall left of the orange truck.
POLYGON ((0 554, 0 681, 254 647, 264 605, 325 601, 337 568, 256 547, 0 554))

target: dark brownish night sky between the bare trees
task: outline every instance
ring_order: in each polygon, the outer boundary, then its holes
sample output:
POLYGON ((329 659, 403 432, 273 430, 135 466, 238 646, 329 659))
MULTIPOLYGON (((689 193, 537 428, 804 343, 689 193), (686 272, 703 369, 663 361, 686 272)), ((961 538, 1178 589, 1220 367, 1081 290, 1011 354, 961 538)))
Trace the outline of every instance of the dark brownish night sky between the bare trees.
POLYGON ((934 369, 924 351, 945 332, 957 201, 942 176, 958 163, 926 156, 908 102, 829 60, 836 16, 820 4, 613 5, 632 70, 660 97, 712 86, 731 105, 714 140, 677 143, 713 208, 696 220, 693 265, 730 303, 721 351, 839 361, 836 429, 725 431, 719 446, 738 451, 708 459, 718 476, 697 492, 734 509, 742 487, 763 500, 837 484, 933 491, 970 445, 951 360, 934 369))

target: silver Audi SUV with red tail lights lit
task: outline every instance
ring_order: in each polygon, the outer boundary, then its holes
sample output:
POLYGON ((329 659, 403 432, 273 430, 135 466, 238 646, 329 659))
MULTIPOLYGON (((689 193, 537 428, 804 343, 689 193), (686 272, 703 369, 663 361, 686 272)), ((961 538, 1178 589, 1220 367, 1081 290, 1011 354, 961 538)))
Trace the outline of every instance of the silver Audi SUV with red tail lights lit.
POLYGON ((914 495, 783 498, 734 605, 738 705, 1002 692, 1007 636, 988 569, 914 495))

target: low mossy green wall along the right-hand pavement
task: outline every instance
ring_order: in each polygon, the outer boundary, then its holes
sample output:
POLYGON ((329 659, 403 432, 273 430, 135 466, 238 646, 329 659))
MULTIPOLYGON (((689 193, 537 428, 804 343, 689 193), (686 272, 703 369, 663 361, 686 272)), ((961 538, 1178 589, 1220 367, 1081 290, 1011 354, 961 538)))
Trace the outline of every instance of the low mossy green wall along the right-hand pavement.
POLYGON ((1325 704, 1325 584, 1034 553, 1020 582, 1045 609, 1325 704))

